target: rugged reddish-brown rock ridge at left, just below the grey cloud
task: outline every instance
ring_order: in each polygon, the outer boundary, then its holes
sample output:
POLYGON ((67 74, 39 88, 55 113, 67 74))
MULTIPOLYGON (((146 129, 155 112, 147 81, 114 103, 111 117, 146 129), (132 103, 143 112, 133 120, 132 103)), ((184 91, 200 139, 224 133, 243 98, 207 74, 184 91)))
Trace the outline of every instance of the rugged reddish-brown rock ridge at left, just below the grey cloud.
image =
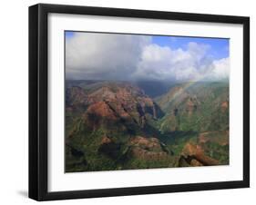
POLYGON ((129 83, 110 83, 86 92, 79 87, 67 89, 67 111, 85 111, 85 122, 97 129, 103 119, 112 122, 125 121, 144 128, 148 117, 162 116, 159 106, 142 90, 129 83))

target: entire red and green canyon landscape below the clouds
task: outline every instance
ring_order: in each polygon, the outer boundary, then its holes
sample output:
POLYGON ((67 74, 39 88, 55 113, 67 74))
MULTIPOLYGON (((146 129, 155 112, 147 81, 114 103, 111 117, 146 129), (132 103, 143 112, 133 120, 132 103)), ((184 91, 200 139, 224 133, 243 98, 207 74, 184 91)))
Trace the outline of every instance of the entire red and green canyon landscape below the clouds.
POLYGON ((67 81, 66 171, 227 164, 228 83, 163 84, 67 81))

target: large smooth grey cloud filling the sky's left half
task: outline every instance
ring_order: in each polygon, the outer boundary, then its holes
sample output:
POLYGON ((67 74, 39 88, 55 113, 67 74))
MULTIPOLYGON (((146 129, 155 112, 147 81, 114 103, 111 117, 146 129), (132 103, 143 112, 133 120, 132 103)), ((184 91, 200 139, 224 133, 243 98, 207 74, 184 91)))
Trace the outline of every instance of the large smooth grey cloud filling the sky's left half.
POLYGON ((67 78, 126 79, 149 42, 143 35, 76 33, 66 43, 67 78))

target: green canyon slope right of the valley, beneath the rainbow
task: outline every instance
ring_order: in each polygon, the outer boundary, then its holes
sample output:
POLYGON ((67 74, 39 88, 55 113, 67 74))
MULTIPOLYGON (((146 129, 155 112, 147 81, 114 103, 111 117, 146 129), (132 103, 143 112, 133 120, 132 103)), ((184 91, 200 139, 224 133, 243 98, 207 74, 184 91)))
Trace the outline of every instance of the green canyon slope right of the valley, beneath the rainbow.
POLYGON ((180 155, 179 166, 229 163, 228 83, 179 84, 156 102, 165 112, 159 130, 180 155))

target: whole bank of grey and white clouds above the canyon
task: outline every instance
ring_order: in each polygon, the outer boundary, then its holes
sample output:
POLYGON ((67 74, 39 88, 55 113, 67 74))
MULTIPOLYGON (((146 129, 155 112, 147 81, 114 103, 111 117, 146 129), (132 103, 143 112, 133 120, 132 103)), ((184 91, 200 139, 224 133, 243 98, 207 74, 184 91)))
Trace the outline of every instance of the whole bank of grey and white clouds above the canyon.
POLYGON ((213 59, 208 44, 172 49, 146 35, 76 33, 66 46, 68 79, 210 81, 230 72, 229 58, 213 59))

